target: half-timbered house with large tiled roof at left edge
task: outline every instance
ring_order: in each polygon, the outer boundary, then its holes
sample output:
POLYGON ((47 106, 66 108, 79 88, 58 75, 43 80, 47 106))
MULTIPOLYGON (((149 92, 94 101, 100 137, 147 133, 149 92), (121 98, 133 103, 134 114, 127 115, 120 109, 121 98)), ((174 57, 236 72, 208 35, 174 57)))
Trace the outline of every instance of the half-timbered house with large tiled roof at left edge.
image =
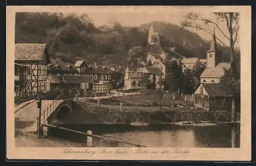
POLYGON ((15 96, 46 91, 46 64, 50 57, 46 44, 16 43, 14 66, 15 96))

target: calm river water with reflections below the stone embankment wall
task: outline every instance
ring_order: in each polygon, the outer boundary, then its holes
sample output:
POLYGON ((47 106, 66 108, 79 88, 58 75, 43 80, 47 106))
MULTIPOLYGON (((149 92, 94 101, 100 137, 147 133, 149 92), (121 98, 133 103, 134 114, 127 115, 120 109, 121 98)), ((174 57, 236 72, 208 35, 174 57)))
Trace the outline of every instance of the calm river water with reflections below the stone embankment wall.
MULTIPOLYGON (((170 124, 151 124, 148 126, 130 125, 65 125, 83 132, 92 130, 93 134, 110 137, 115 140, 146 147, 212 147, 231 148, 232 126, 220 124, 217 126, 178 126, 170 124)), ((52 130, 54 136, 70 141, 86 143, 87 136, 63 130, 52 130)), ((233 138, 234 139, 234 138, 233 138)), ((240 141, 240 128, 237 129, 236 142, 240 141)), ((133 147, 93 137, 94 147, 133 147)))

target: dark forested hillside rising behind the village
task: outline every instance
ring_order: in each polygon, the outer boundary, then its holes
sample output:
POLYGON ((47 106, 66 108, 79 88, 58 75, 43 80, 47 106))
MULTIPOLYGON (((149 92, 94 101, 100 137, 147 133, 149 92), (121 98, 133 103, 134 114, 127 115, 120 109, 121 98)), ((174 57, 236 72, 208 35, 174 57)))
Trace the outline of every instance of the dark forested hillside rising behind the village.
MULTIPOLYGON (((209 42, 196 33, 166 22, 152 24, 166 49, 175 46, 180 56, 205 58, 209 42)), ((17 13, 15 42, 47 43, 51 58, 61 61, 82 58, 87 63, 126 65, 128 61, 145 60, 150 25, 123 27, 114 22, 96 27, 86 14, 17 13)), ((220 48, 224 53, 223 60, 229 59, 226 56, 228 49, 220 48)))

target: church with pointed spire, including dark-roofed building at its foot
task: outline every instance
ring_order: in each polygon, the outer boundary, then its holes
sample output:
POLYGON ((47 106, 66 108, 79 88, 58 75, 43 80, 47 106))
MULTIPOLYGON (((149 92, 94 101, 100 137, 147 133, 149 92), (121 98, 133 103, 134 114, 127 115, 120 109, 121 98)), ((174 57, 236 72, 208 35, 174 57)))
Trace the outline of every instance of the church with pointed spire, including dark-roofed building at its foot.
POLYGON ((210 49, 206 51, 206 68, 200 76, 200 85, 194 93, 194 105, 207 110, 230 110, 231 93, 220 84, 220 78, 230 63, 221 62, 215 33, 212 35, 210 49))

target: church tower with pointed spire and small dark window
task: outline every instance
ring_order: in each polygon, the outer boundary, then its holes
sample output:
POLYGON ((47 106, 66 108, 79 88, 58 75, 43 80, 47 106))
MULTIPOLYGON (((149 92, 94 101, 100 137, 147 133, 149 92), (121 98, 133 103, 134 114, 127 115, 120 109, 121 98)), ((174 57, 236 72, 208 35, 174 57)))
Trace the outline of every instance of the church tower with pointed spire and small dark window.
POLYGON ((206 51, 206 67, 207 68, 214 68, 218 63, 220 63, 220 51, 217 48, 217 42, 215 37, 215 30, 214 34, 212 35, 210 49, 206 51))

